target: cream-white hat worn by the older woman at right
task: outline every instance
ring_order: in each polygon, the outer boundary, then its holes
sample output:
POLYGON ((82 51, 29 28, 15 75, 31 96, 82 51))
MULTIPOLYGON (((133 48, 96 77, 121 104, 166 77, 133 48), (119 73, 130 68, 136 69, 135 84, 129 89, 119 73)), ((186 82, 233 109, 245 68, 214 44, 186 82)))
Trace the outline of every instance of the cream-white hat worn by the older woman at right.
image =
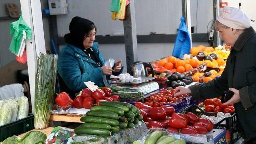
POLYGON ((251 26, 251 20, 240 9, 229 6, 220 9, 216 20, 233 29, 247 29, 251 26))

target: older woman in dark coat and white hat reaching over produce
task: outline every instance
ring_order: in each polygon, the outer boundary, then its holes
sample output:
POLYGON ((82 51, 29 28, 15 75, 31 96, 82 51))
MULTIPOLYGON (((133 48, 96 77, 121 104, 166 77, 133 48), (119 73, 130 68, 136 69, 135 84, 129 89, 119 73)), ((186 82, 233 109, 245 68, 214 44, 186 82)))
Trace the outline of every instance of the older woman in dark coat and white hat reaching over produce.
POLYGON ((247 143, 256 137, 256 33, 250 19, 234 7, 225 7, 216 18, 220 38, 231 46, 222 75, 212 81, 190 87, 177 87, 175 96, 191 93, 192 99, 219 97, 224 91, 235 94, 225 104, 234 104, 237 120, 247 143))

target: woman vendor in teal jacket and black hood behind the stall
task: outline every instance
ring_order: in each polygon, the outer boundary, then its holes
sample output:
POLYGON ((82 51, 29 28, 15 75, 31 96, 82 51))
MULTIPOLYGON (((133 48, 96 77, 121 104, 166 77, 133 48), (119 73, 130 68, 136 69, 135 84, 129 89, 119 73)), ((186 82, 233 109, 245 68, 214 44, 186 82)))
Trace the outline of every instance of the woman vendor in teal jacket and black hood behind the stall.
POLYGON ((92 81, 97 86, 105 86, 110 75, 122 72, 122 60, 113 67, 104 66, 105 60, 98 49, 98 43, 94 42, 97 29, 92 21, 76 16, 69 24, 69 31, 64 36, 66 44, 58 55, 61 91, 74 97, 86 88, 84 82, 92 81), (106 80, 103 80, 103 75, 107 75, 106 80))

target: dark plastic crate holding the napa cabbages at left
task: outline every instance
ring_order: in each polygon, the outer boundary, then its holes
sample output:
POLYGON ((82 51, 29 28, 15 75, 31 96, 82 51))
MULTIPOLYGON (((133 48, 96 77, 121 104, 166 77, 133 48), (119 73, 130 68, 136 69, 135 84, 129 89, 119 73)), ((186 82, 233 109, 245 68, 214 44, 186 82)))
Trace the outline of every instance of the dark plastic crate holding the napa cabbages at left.
POLYGON ((20 135, 34 129, 34 114, 28 114, 23 119, 0 126, 0 142, 10 136, 20 135))

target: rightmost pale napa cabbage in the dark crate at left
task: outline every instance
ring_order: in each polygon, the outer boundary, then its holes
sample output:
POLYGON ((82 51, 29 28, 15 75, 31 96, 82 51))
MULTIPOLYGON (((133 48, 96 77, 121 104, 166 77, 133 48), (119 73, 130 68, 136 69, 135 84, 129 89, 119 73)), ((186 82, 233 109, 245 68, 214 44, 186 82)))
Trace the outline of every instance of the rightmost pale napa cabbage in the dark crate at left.
POLYGON ((18 98, 18 113, 17 120, 28 116, 28 98, 21 96, 18 98))

